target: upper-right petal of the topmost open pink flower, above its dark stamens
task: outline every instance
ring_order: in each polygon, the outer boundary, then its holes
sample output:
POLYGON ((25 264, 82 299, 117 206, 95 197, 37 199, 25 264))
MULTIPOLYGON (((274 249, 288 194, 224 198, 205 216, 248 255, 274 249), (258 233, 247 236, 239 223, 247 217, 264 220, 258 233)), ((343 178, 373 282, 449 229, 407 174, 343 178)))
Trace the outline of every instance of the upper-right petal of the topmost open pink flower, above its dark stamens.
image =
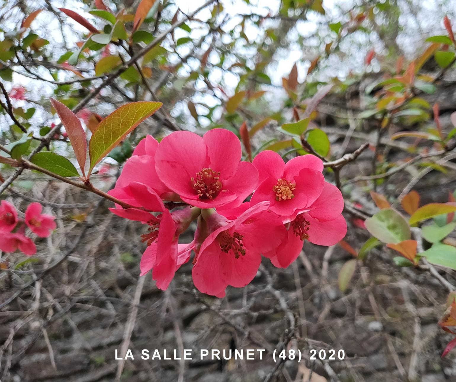
POLYGON ((212 129, 202 139, 207 146, 209 167, 220 171, 222 181, 236 174, 242 156, 238 137, 226 129, 212 129))

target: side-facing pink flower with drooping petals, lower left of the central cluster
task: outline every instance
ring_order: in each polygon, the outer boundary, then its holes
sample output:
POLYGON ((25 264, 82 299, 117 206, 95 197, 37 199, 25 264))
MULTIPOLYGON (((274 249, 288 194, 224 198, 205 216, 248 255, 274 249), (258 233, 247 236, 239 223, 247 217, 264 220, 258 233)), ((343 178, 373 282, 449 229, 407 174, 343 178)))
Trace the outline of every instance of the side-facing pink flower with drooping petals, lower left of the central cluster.
POLYGON ((157 288, 167 289, 179 267, 187 262, 192 251, 192 243, 178 244, 179 235, 200 214, 199 208, 187 207, 169 212, 157 193, 142 183, 131 182, 124 192, 131 197, 135 205, 144 206, 150 211, 159 211, 154 216, 149 212, 135 208, 109 208, 114 214, 130 220, 137 220, 149 225, 149 232, 142 235, 147 243, 141 258, 141 275, 152 270, 152 279, 156 280, 157 288))

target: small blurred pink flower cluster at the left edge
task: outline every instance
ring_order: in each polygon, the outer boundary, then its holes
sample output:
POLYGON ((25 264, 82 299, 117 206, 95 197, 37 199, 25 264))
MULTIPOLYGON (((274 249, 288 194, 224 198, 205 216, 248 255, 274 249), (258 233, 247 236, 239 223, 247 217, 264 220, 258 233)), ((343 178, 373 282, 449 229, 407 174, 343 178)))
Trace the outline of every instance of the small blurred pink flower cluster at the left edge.
POLYGON ((26 236, 26 226, 38 237, 48 237, 56 228, 55 217, 42 214, 40 203, 31 203, 23 220, 19 219, 16 207, 2 200, 0 203, 0 250, 14 252, 19 249, 26 255, 36 253, 33 240, 26 236), (15 231, 15 232, 13 232, 15 231))

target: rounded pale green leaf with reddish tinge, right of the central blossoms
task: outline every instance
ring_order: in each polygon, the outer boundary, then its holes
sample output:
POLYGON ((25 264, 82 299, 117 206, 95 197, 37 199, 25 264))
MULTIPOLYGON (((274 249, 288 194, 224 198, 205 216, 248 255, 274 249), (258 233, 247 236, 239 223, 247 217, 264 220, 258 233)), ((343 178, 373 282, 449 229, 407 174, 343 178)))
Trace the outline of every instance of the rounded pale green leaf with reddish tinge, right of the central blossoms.
POLYGON ((384 208, 364 222, 373 237, 383 243, 400 243, 410 239, 410 227, 404 217, 392 208, 384 208))

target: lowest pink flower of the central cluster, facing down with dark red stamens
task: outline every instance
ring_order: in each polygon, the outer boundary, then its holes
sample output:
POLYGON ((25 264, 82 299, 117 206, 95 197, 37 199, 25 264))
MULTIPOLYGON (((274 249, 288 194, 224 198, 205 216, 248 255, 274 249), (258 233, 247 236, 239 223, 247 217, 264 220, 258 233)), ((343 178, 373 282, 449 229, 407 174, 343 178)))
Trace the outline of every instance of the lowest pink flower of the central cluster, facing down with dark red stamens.
MULTIPOLYGON (((254 279, 261 253, 276 248, 285 237, 280 217, 268 209, 268 202, 250 207, 234 220, 212 210, 204 216, 196 240, 210 232, 202 242, 192 270, 198 290, 217 297, 225 295, 228 285, 241 288, 254 279)), ((197 248, 196 248, 197 249, 197 248)))

